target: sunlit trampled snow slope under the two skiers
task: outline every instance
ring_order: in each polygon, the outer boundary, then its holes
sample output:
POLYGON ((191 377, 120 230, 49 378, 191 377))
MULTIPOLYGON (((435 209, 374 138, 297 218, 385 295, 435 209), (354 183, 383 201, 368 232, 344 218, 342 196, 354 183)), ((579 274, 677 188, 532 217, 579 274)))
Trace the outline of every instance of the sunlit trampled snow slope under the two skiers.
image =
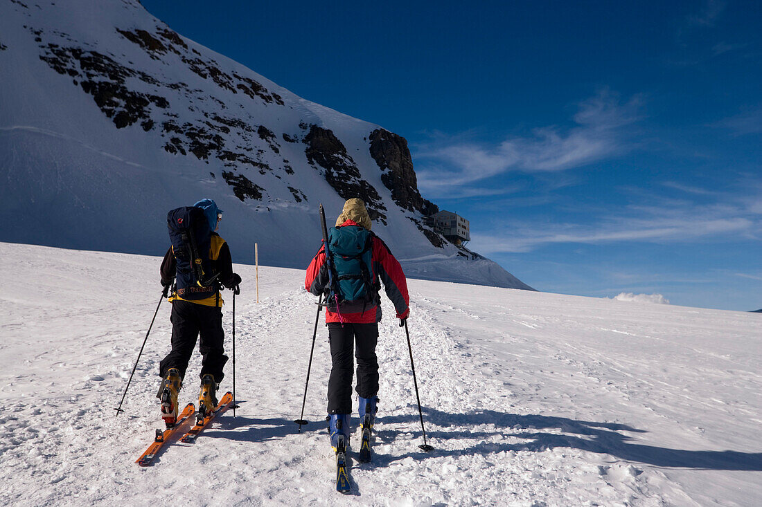
MULTIPOLYGON (((379 337, 373 465, 334 491, 322 418, 330 359, 303 272, 236 266, 241 408, 155 466, 162 304, 126 413, 114 417, 161 288, 158 257, 0 244, 2 505, 758 505, 759 314, 411 280, 411 343, 379 337), (118 290, 115 289, 118 287, 118 290)), ((226 293, 225 325, 231 324, 226 293)), ((389 310, 389 308, 386 308, 389 310)), ((386 315, 391 311, 386 311, 386 315)), ((230 336, 227 336, 231 349, 230 336)), ((197 394, 194 357, 181 403, 197 394)), ((232 387, 229 363, 223 389, 232 387)), ((357 418, 354 419, 354 424, 357 418)), ((355 438, 355 442, 357 438, 355 438)))

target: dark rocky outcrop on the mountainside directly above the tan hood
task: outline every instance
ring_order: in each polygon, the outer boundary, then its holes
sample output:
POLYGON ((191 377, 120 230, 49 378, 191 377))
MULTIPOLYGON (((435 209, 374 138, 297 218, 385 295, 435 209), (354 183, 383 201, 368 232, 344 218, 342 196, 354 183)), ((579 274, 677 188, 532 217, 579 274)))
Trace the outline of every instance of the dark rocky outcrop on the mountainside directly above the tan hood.
POLYGON ((359 197, 365 202, 371 220, 378 220, 386 225, 387 211, 378 191, 363 180, 357 164, 347 153, 347 148, 328 129, 317 125, 309 127, 303 142, 307 145, 307 161, 325 170, 325 180, 344 199, 359 197))

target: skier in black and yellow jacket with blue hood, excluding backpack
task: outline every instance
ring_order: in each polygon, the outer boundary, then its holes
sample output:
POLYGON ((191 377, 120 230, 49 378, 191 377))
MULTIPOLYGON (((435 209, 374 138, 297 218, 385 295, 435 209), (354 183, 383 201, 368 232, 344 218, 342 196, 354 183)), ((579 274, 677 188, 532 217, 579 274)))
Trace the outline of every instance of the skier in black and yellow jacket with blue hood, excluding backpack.
POLYGON ((210 251, 208 253, 215 282, 210 287, 182 286, 183 277, 179 273, 174 247, 170 247, 164 256, 161 267, 162 285, 168 287, 173 281, 172 294, 168 301, 172 303, 172 341, 171 352, 159 364, 162 385, 157 397, 162 400, 162 418, 168 426, 174 425, 178 416, 178 391, 185 377, 185 370, 191 359, 196 340, 200 336, 201 352, 201 391, 199 394, 199 413, 210 413, 217 404, 216 389, 225 377, 223 366, 228 360, 223 349, 225 333, 223 331, 223 298, 219 295, 224 285, 228 289, 238 290, 241 277, 233 273, 230 249, 223 238, 216 233, 223 212, 212 199, 202 199, 194 207, 203 209, 203 215, 211 229, 210 251), (189 297, 190 293, 193 297, 189 297))

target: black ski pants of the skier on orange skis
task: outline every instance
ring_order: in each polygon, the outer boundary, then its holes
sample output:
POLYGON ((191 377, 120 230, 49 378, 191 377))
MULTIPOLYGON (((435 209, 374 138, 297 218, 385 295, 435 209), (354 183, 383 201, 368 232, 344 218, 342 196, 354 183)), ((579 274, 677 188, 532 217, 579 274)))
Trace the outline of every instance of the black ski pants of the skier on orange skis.
POLYGON ((191 360, 196 340, 201 336, 201 374, 210 373, 217 384, 223 380, 223 366, 228 361, 223 342, 223 309, 198 305, 188 301, 172 301, 172 350, 159 365, 159 375, 164 377, 169 368, 178 368, 181 378, 191 360))

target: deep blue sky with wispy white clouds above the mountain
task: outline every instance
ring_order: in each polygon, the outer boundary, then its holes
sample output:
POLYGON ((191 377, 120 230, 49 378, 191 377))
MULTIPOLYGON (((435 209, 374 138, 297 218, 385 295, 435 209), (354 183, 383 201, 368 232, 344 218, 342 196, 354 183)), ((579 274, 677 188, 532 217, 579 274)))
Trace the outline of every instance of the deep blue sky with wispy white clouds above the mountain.
POLYGON ((421 193, 536 289, 762 308, 762 2, 142 4, 404 136, 421 193))

